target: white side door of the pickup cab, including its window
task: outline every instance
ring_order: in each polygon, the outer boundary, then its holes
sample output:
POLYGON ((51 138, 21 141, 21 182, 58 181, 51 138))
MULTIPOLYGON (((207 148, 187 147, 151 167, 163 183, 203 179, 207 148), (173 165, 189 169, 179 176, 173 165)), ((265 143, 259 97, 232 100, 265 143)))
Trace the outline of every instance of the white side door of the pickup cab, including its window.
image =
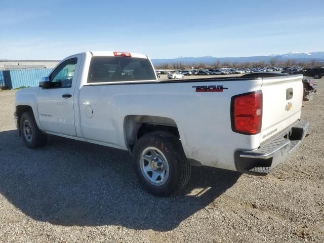
POLYGON ((39 122, 43 130, 75 136, 73 93, 81 55, 74 55, 59 64, 50 74, 56 87, 42 88, 37 95, 39 122))

